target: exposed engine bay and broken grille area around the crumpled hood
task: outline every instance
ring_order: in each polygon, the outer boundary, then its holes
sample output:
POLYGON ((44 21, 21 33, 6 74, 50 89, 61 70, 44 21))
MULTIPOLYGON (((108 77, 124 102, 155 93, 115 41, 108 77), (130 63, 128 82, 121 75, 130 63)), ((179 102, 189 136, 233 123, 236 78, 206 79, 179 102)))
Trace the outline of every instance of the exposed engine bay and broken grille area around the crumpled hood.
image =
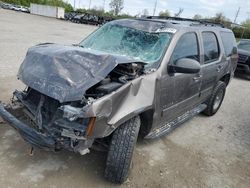
MULTIPOLYGON (((34 128, 37 132, 51 138, 51 143, 33 143, 42 149, 68 149, 85 154, 86 146, 94 140, 87 139, 89 125, 93 118, 79 118, 82 107, 108 95, 129 81, 143 74, 144 65, 141 63, 119 64, 107 77, 92 86, 83 95, 81 101, 60 103, 58 100, 36 91, 30 87, 24 91, 15 91, 12 106, 9 108, 19 119, 34 128), (89 143, 86 143, 89 142, 89 143)), ((32 140, 32 135, 30 136, 32 140)), ((47 139, 49 140, 49 139, 47 139)))

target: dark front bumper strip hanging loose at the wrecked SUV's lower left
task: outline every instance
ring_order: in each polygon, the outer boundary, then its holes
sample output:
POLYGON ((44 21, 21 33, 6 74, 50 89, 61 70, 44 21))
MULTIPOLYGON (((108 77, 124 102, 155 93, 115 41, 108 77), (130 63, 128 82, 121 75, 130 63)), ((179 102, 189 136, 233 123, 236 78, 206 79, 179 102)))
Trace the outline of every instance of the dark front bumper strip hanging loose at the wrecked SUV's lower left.
POLYGON ((36 131, 35 129, 24 124, 8 112, 4 105, 0 103, 0 116, 7 121, 13 128, 15 128, 25 141, 32 146, 38 147, 44 150, 56 150, 56 142, 50 136, 44 135, 36 131))

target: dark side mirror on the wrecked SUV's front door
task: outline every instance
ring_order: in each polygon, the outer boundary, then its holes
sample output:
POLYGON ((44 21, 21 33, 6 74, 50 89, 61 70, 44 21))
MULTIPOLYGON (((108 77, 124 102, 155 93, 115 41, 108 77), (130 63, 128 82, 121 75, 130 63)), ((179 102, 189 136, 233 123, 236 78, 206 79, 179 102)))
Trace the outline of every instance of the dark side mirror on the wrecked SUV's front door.
POLYGON ((169 65, 172 73, 195 74, 201 70, 200 63, 194 59, 182 58, 177 60, 175 65, 169 65))

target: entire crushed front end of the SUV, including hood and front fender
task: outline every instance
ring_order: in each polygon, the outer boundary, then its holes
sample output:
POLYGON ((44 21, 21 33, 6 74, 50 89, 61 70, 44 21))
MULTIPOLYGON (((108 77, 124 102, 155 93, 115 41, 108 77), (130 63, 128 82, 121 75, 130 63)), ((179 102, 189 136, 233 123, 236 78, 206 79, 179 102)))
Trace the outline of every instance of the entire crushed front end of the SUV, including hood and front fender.
POLYGON ((0 103, 0 116, 33 146, 84 155, 152 107, 156 74, 146 76, 144 64, 75 46, 32 47, 18 72, 27 89, 0 103))

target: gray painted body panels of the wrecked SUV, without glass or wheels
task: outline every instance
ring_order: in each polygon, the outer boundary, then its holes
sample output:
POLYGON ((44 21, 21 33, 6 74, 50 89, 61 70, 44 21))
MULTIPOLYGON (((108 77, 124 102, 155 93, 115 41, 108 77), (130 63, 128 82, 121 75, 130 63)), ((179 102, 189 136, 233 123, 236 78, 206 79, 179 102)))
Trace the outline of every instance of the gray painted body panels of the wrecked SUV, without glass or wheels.
MULTIPOLYGON (((134 116, 141 115, 147 110, 153 112, 152 117, 149 117, 152 124, 142 125, 142 127, 148 126, 151 132, 157 130, 206 101, 218 80, 225 75, 229 76, 229 79, 233 76, 237 59, 235 57, 225 57, 220 39, 220 31, 231 32, 228 29, 205 26, 190 27, 190 25, 178 25, 163 20, 123 20, 113 23, 147 30, 148 32, 158 32, 159 29, 164 30, 164 27, 166 27, 174 29, 175 34, 156 69, 145 70, 143 75, 124 84, 118 90, 99 99, 90 100, 87 105, 76 110, 76 115, 79 117, 97 118, 94 132, 89 138, 91 142, 85 143, 85 145, 83 143, 81 145, 83 149, 84 147, 90 147, 91 144, 89 143, 92 143, 95 138, 110 135, 123 122, 134 116), (135 24, 137 22, 138 24, 135 24), (152 25, 153 27, 151 27, 152 25), (219 58, 210 64, 204 64, 204 49, 201 37, 203 31, 214 32, 220 46, 219 58), (173 50, 180 37, 187 32, 194 32, 198 36, 201 71, 197 74, 170 73, 168 67, 173 50)), ((62 46, 58 45, 42 45, 29 50, 20 68, 19 77, 28 86, 61 102, 79 100, 86 89, 101 81, 118 64, 132 61, 125 57, 114 57, 113 55, 98 54, 93 51, 87 52, 78 47, 65 46, 62 48, 62 46), (84 68, 78 70, 79 67, 77 67, 77 70, 75 70, 73 66, 68 67, 68 61, 72 61, 74 65, 80 65, 80 68, 84 68), (46 67, 41 74, 42 68, 45 67, 44 64, 51 67, 46 67), (70 73, 70 69, 75 70, 77 74, 70 73), (99 69, 100 74, 96 74, 99 69), (59 70, 66 72, 61 74, 62 72, 59 70), (80 72, 82 74, 79 74, 80 72), (81 76, 79 77, 79 75, 81 76), (53 76, 56 77, 56 81, 53 76), (48 79, 48 81, 44 79, 48 79), (36 85, 37 80, 41 80, 38 85, 36 85), (51 85, 59 86, 62 94, 58 95, 57 92, 52 91, 50 89, 51 85)))

